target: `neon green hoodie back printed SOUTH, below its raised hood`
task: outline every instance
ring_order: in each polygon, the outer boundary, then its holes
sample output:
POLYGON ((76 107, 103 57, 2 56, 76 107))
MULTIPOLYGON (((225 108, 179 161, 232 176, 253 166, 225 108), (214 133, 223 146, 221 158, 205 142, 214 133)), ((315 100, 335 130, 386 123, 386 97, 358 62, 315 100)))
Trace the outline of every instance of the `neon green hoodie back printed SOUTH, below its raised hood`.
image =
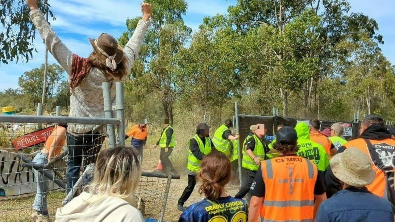
POLYGON ((325 171, 329 166, 329 157, 323 146, 307 139, 298 139, 297 146, 299 150, 297 155, 312 160, 316 164, 317 169, 325 171))

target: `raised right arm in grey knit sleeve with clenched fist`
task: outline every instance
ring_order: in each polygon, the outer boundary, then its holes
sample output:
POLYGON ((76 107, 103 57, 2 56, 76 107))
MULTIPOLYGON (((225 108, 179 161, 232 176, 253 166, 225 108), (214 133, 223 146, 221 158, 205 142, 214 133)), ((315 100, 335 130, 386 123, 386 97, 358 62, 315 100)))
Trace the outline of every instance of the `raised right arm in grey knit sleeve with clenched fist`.
POLYGON ((124 47, 125 56, 127 56, 130 61, 130 69, 134 61, 137 60, 137 57, 140 52, 141 43, 143 42, 143 38, 145 33, 147 32, 149 26, 149 19, 152 13, 152 7, 150 4, 143 2, 141 4, 141 11, 143 12, 143 19, 141 19, 133 32, 132 37, 129 39, 128 43, 124 47))

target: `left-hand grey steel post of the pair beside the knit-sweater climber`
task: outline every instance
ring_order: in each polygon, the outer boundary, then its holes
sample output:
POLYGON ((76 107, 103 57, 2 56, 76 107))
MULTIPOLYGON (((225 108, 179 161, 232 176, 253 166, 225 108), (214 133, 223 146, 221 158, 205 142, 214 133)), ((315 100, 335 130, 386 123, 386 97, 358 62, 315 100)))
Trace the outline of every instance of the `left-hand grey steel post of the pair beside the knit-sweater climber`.
MULTIPOLYGON (((111 99, 110 83, 103 82, 103 99, 104 99, 104 116, 105 118, 113 118, 113 101, 111 99)), ((114 148, 117 144, 115 140, 114 125, 107 125, 107 135, 110 148, 114 148)))

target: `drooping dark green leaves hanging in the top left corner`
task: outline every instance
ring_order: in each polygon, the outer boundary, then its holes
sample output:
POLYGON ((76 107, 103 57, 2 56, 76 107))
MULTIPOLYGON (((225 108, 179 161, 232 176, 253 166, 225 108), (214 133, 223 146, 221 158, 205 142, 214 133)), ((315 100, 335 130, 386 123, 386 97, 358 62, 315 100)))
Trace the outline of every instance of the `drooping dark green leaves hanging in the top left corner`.
MULTIPOLYGON (((38 6, 54 18, 48 0, 39 0, 38 6)), ((0 0, 0 64, 32 58, 35 28, 29 13, 25 0, 0 0)))

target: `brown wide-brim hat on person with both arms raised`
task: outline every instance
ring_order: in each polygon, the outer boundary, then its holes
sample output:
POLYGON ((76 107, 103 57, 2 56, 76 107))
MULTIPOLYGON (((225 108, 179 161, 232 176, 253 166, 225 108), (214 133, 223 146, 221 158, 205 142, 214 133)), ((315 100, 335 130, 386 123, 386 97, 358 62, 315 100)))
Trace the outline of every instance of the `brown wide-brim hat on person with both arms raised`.
POLYGON ((90 41, 90 44, 92 44, 94 52, 96 52, 98 57, 103 62, 105 62, 105 60, 107 59, 107 56, 103 55, 98 50, 98 47, 100 47, 100 49, 105 51, 109 56, 113 56, 115 54, 115 52, 117 52, 117 55, 115 56, 115 63, 119 64, 120 62, 122 62, 122 59, 124 57, 124 53, 123 53, 122 47, 118 44, 117 39, 115 39, 113 36, 111 36, 111 35, 109 35, 107 33, 101 34, 97 38, 97 40, 98 40, 97 41, 98 42, 97 46, 95 44, 96 39, 90 39, 90 38, 88 38, 88 39, 90 41))

